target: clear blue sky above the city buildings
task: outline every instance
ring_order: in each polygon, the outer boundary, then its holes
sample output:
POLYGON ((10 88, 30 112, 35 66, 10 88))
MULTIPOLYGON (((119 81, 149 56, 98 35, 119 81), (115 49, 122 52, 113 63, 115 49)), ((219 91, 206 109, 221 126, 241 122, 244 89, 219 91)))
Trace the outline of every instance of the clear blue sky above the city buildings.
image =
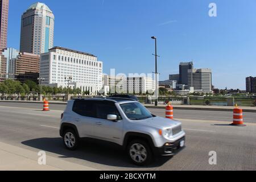
MULTIPOLYGON (((7 46, 19 49, 20 19, 36 1, 10 0, 7 46)), ((256 76, 255 0, 42 0, 55 15, 54 46, 93 53, 103 72, 152 73, 160 80, 181 61, 212 69, 216 88, 245 89, 256 76), (217 16, 210 17, 209 3, 217 16)))

